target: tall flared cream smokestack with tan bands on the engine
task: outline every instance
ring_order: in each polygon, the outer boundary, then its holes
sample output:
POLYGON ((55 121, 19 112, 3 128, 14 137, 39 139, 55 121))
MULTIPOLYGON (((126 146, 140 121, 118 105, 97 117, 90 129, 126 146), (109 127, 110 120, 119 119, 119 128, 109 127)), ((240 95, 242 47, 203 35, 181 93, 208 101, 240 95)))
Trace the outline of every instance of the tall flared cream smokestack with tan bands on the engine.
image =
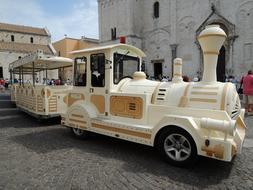
POLYGON ((201 49, 204 55, 203 82, 216 82, 216 67, 220 48, 226 40, 226 33, 219 25, 206 26, 199 37, 201 49))

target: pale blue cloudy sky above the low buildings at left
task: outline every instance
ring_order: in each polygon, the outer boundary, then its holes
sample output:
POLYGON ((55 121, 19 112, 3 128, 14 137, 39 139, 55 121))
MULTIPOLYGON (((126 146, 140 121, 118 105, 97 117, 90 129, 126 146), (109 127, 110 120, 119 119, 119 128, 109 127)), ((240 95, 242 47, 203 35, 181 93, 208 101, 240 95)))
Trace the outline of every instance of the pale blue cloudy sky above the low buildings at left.
POLYGON ((97 0, 0 0, 0 22, 47 27, 52 41, 98 38, 97 0))

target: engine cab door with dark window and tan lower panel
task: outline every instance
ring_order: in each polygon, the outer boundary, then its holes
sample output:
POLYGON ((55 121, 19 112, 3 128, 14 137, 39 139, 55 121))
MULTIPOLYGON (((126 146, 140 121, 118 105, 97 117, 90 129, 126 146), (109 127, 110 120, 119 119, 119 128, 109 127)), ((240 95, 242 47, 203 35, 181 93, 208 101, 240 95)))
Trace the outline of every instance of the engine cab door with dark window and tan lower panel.
POLYGON ((104 53, 90 55, 90 101, 95 105, 100 116, 106 113, 105 60, 104 53))

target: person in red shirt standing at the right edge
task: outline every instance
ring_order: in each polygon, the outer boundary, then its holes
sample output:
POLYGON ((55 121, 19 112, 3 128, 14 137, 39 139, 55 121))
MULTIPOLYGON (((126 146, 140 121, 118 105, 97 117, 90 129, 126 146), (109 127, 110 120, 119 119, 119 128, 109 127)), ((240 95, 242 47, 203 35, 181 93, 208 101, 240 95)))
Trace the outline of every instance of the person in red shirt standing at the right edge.
POLYGON ((243 98, 245 103, 246 113, 253 113, 253 73, 252 70, 241 79, 243 85, 243 98))

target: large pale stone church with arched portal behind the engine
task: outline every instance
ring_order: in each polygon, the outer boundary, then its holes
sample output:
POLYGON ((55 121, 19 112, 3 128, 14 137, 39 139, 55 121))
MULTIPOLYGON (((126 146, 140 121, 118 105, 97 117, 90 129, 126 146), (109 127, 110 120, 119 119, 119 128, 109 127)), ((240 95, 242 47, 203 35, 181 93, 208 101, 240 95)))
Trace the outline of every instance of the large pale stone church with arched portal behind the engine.
POLYGON ((147 55, 145 71, 154 77, 172 76, 172 60, 183 59, 184 75, 203 71, 197 42, 201 30, 219 24, 227 40, 219 55, 218 80, 240 78, 253 66, 252 0, 98 0, 101 43, 120 36, 147 55))

